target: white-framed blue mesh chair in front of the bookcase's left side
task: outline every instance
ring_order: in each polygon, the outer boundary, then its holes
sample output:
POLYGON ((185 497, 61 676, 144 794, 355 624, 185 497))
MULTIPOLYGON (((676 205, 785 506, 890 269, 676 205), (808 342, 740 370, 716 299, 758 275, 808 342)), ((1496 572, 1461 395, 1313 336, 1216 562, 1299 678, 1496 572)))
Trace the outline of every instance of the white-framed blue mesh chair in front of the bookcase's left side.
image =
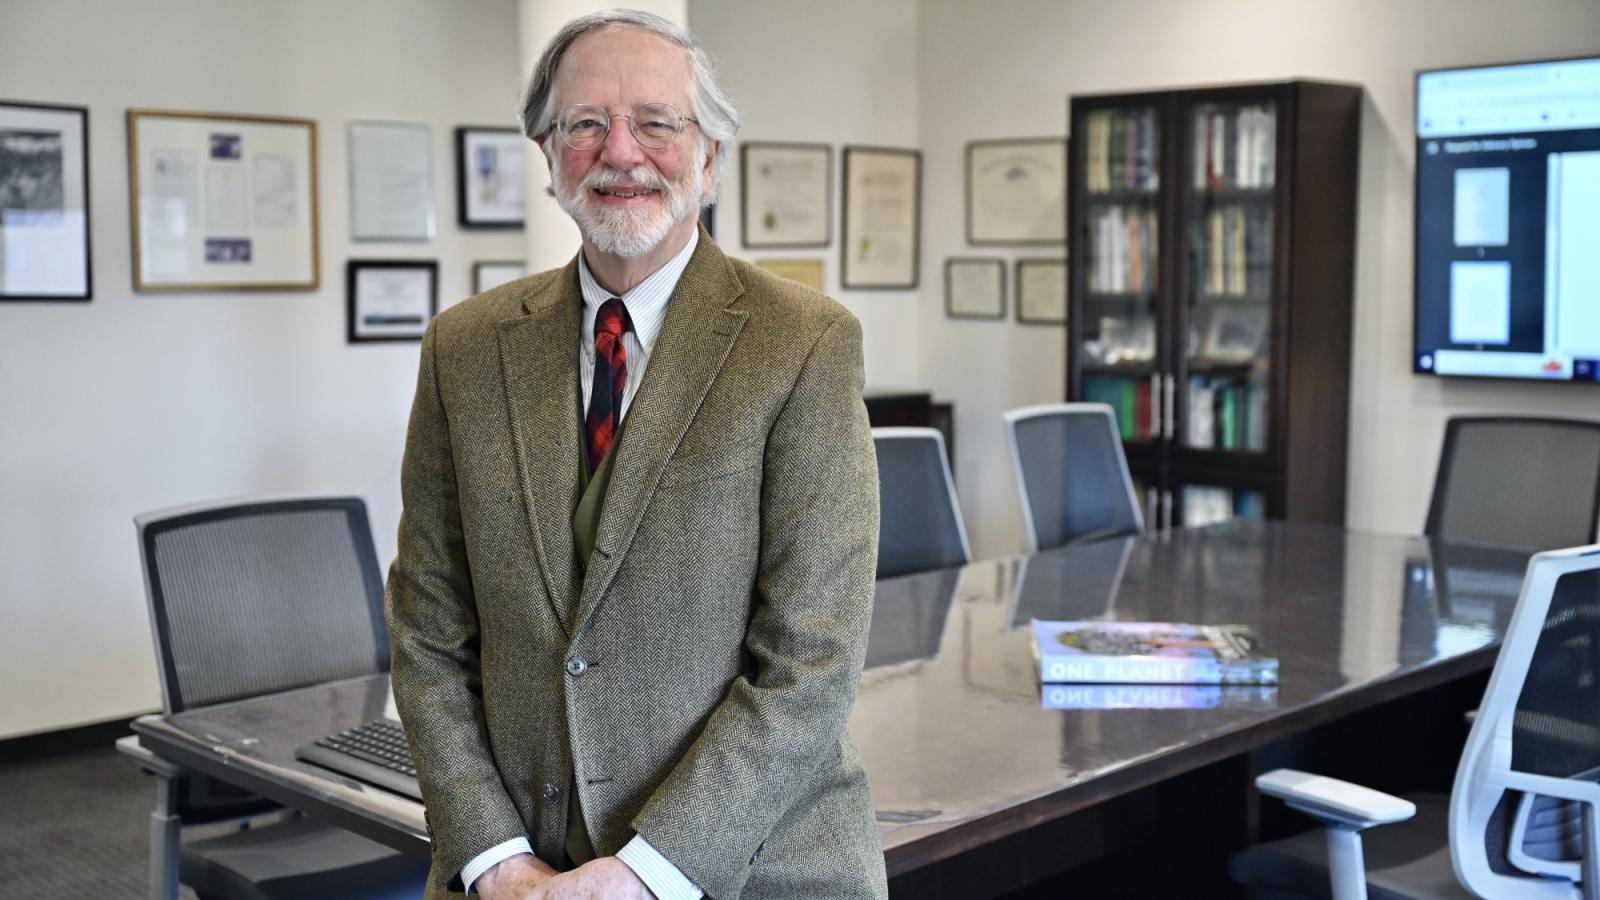
POLYGON ((1109 405, 1024 407, 1005 423, 1030 552, 1144 530, 1109 405))

